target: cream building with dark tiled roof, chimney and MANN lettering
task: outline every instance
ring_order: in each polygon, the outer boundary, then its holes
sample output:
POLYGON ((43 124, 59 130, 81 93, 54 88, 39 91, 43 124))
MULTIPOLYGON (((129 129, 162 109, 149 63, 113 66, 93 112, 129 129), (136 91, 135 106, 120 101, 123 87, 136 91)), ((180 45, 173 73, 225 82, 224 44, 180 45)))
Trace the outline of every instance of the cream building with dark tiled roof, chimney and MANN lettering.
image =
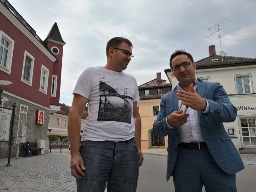
MULTIPOLYGON (((256 58, 216 55, 209 46, 209 57, 196 61, 195 75, 203 81, 219 82, 237 108, 234 122, 224 123, 240 153, 256 153, 256 58)), ((173 87, 177 79, 165 70, 173 87)))

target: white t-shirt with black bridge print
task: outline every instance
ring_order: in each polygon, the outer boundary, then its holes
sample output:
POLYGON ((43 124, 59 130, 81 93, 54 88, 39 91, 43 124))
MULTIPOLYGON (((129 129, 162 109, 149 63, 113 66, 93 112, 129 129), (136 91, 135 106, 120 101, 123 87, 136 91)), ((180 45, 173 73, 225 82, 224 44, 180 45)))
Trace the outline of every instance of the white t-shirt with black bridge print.
POLYGON ((140 100, 136 79, 104 67, 89 67, 73 94, 88 99, 82 141, 125 141, 134 137, 133 102, 140 100))

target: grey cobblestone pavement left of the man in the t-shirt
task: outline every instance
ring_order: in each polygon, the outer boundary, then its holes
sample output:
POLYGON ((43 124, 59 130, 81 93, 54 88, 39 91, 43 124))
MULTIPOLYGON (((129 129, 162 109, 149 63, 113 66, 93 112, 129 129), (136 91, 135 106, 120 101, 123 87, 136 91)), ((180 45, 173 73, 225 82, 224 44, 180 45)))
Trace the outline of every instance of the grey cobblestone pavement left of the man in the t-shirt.
POLYGON ((44 154, 0 159, 0 192, 74 192, 69 154, 44 154))

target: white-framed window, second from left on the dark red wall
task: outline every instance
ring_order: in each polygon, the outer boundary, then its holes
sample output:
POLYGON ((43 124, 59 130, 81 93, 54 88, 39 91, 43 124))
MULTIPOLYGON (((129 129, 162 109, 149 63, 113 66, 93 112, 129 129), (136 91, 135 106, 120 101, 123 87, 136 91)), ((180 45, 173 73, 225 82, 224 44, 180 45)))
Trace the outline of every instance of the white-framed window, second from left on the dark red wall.
POLYGON ((23 81, 26 84, 29 84, 30 86, 32 86, 34 61, 35 58, 32 55, 30 55, 27 51, 25 51, 21 81, 23 81))

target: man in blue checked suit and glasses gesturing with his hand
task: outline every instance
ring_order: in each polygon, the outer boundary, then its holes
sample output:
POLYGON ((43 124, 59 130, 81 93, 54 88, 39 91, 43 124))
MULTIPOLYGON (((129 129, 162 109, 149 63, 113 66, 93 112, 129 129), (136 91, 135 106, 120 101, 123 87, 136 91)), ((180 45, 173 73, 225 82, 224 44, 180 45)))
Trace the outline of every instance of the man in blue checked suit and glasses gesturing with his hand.
POLYGON ((244 164, 223 126, 236 119, 236 108, 221 84, 195 77, 189 53, 175 51, 170 67, 179 84, 162 96, 154 123, 157 137, 168 135, 166 180, 173 177, 176 192, 201 192, 203 185, 207 192, 236 192, 244 164))

